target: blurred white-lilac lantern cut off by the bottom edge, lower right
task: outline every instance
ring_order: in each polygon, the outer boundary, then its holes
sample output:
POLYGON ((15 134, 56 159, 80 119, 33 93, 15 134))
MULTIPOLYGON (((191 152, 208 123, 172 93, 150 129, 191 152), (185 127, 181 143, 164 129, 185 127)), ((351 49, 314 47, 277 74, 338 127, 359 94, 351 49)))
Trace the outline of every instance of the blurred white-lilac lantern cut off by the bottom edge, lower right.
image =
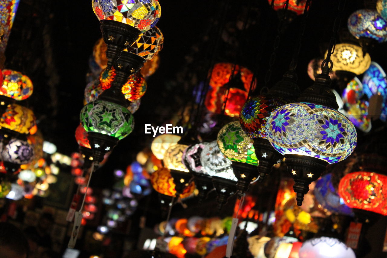
POLYGON ((332 237, 312 238, 305 241, 299 252, 299 258, 356 258, 353 250, 332 237))

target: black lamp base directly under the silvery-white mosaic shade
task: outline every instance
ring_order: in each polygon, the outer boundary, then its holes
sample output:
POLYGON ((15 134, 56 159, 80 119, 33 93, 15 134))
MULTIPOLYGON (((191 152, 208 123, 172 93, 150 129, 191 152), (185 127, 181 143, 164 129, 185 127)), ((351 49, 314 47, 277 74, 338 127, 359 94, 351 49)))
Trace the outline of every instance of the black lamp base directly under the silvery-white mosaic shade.
POLYGON ((220 210, 228 199, 236 193, 236 181, 223 177, 212 177, 212 183, 216 191, 217 209, 220 210))

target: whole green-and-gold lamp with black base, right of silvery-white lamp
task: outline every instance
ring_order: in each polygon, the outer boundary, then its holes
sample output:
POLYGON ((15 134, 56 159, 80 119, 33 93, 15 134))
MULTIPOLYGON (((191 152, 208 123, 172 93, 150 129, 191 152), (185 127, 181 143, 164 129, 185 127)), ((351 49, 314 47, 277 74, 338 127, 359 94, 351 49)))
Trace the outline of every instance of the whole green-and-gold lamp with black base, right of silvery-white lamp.
POLYGON ((238 179, 236 185, 241 197, 250 183, 258 178, 257 157, 253 140, 242 130, 239 121, 226 124, 219 131, 217 144, 221 152, 232 162, 233 172, 238 179))

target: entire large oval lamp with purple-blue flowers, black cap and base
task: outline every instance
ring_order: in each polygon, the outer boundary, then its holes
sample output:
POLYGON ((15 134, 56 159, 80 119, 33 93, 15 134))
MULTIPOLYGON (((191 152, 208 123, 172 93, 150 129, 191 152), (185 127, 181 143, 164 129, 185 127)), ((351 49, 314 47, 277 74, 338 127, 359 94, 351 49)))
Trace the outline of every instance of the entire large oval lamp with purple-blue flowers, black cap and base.
POLYGON ((336 96, 329 89, 331 68, 324 66, 315 83, 298 98, 277 108, 266 123, 271 145, 285 156, 295 181, 297 205, 301 206, 309 184, 325 167, 347 158, 357 143, 356 129, 337 111, 336 96))

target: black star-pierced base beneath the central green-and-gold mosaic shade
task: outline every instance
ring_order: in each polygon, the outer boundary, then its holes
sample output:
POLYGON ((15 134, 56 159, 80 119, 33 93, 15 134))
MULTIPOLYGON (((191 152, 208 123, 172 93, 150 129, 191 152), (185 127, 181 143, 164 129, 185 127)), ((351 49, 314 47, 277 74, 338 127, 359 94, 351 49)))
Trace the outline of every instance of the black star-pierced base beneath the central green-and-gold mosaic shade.
POLYGON ((233 161, 231 167, 233 167, 234 175, 238 179, 236 189, 238 191, 238 198, 241 199, 250 184, 258 178, 257 167, 237 161, 233 161))

